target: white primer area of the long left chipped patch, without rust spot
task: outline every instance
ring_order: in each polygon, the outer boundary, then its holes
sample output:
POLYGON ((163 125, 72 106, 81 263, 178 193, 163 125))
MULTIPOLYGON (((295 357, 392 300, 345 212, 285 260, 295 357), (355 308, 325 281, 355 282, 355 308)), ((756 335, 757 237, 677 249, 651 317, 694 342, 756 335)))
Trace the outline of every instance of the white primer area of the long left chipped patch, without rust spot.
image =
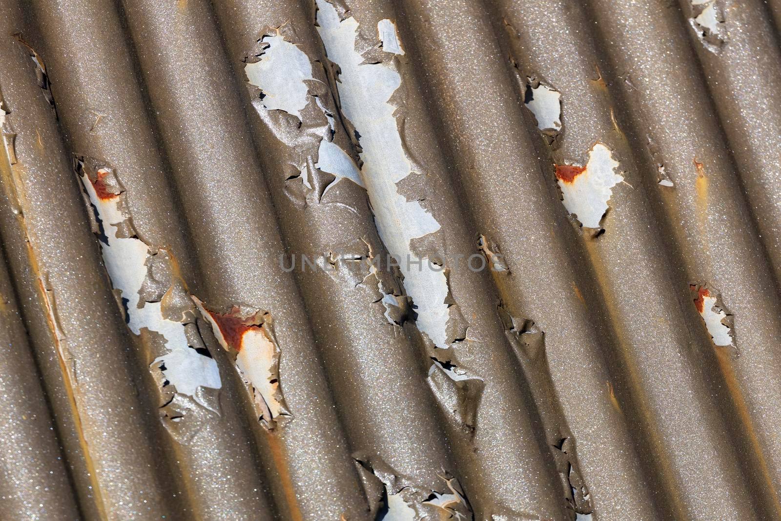
POLYGON ((141 300, 138 291, 147 275, 149 247, 140 239, 116 236, 116 225, 125 220, 119 209, 119 196, 108 200, 99 198, 86 173, 81 175, 81 182, 108 238, 108 245, 100 243, 103 262, 113 287, 121 291, 122 298, 127 299, 127 326, 134 334, 141 334, 142 329, 161 334, 169 353, 155 359, 152 366, 162 362, 166 367, 162 374, 177 388, 177 393, 190 395, 199 404, 211 409, 198 398, 196 391, 198 387, 223 387, 217 363, 190 347, 183 323, 163 318, 161 302, 141 302, 141 307, 138 307, 141 300))

